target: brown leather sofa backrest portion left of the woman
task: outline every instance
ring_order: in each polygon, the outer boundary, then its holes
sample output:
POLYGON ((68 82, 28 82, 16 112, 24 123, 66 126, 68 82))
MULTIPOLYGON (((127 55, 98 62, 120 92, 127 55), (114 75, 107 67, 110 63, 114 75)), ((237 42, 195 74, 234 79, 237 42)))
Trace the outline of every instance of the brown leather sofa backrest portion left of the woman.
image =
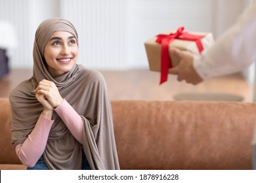
POLYGON ((20 164, 11 144, 11 105, 9 99, 0 98, 0 163, 20 164))

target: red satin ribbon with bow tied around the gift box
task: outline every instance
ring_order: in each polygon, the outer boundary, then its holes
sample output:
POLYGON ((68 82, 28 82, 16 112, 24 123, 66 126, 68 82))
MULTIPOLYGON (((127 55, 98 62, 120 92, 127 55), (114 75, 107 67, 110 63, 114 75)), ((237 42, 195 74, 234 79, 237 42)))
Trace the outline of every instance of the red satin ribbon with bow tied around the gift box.
POLYGON ((169 44, 175 39, 180 39, 184 41, 194 41, 198 50, 201 53, 203 51, 203 45, 200 39, 205 37, 205 35, 192 35, 187 31, 184 31, 184 27, 179 27, 176 33, 170 33, 169 35, 157 35, 156 42, 161 44, 161 80, 160 84, 167 81, 168 69, 172 67, 171 58, 169 57, 169 44))

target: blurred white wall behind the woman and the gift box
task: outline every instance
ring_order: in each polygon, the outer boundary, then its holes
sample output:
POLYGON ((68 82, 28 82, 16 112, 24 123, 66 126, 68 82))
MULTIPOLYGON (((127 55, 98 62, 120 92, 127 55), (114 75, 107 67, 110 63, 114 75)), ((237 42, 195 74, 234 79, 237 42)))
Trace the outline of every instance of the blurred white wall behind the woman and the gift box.
MULTIPOLYGON (((33 66, 35 29, 52 16, 79 33, 79 63, 92 69, 148 68, 144 41, 166 29, 211 31, 218 38, 249 0, 0 0, 0 21, 16 27, 11 67, 33 66), (82 42, 82 43, 81 43, 82 42)), ((2 35, 3 36, 3 35, 2 35)))

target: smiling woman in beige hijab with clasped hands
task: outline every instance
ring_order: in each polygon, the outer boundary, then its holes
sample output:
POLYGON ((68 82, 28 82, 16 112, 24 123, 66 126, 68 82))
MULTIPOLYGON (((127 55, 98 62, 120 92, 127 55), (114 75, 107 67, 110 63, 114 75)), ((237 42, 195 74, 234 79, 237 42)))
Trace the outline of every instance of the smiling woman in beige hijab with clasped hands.
POLYGON ((119 169, 104 78, 77 65, 77 56, 70 22, 39 25, 32 78, 10 95, 12 144, 28 169, 119 169))

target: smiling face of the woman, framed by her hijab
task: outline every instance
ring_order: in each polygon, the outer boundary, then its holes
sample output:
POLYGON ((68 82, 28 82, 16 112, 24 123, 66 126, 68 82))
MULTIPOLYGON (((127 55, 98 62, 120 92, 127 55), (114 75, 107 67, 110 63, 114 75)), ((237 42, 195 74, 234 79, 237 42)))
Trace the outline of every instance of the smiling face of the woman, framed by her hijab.
POLYGON ((43 56, 51 76, 63 75, 70 71, 77 61, 77 40, 72 33, 56 31, 47 42, 43 56))

